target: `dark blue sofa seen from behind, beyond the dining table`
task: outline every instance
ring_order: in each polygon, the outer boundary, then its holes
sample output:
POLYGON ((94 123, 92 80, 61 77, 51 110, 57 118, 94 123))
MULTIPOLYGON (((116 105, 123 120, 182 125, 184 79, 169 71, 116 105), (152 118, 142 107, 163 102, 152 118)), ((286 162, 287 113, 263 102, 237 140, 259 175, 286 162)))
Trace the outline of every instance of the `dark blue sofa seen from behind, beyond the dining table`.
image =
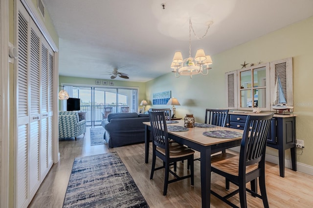
POLYGON ((150 121, 144 113, 110 113, 101 125, 105 129, 104 139, 110 148, 145 141, 145 126, 150 121))

